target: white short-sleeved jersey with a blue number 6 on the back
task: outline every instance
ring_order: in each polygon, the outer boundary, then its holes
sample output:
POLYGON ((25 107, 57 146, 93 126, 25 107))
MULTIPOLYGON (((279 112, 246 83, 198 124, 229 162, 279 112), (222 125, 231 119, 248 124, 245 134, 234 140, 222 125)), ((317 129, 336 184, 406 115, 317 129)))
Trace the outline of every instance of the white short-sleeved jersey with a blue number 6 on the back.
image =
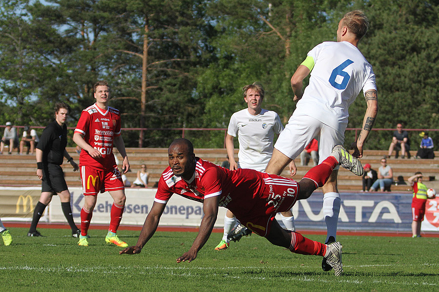
POLYGON ((349 106, 361 89, 363 93, 377 90, 372 65, 347 41, 323 42, 309 51, 308 56, 315 65, 295 112, 344 133, 349 106))

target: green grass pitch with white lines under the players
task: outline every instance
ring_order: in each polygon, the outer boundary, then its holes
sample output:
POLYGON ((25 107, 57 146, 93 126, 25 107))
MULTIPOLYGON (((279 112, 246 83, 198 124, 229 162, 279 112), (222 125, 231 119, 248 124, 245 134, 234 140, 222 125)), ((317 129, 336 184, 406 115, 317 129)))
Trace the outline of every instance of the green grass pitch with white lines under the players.
MULTIPOLYGON (((321 257, 293 254, 257 235, 215 251, 222 235, 213 234, 193 262, 177 264, 197 233, 156 232, 129 256, 106 244, 103 230, 90 230, 88 247, 68 229, 39 231, 46 237, 10 228, 13 243, 0 245, 1 291, 439 291, 437 237, 339 236, 344 274, 336 277, 321 270, 321 257)), ((134 245, 139 231, 121 227, 118 235, 134 245)))

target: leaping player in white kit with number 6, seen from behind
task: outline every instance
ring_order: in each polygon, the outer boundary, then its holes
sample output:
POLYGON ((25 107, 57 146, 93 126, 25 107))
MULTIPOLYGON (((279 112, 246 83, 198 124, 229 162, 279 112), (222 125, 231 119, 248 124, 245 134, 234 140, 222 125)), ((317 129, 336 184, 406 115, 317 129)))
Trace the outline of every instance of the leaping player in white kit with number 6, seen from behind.
MULTIPOLYGON (((296 110, 279 135, 273 156, 265 171, 280 174, 316 138, 319 141, 319 162, 326 159, 335 145, 343 145, 348 122, 348 108, 363 90, 367 103, 361 132, 351 147, 354 157, 361 158, 363 146, 378 113, 375 74, 357 48, 369 22, 361 10, 348 12, 339 22, 337 42, 323 42, 312 49, 291 78, 296 110), (309 85, 303 91, 303 79, 311 73, 309 85)), ((361 170, 359 170, 361 171, 361 170)), ((326 222, 326 242, 336 240, 340 196, 337 173, 323 185, 323 215, 326 222)), ((322 268, 330 267, 322 262, 322 268)))

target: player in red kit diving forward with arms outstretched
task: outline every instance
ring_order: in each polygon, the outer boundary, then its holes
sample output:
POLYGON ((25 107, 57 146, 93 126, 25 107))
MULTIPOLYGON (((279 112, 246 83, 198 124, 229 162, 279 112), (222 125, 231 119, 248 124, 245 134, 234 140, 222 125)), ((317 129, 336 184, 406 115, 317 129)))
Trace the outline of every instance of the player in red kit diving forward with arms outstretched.
POLYGON ((159 180, 153 206, 145 219, 135 246, 120 254, 139 254, 159 225, 167 201, 173 194, 203 203, 204 217, 200 231, 188 252, 177 262, 192 261, 209 238, 218 215, 218 207, 232 211, 241 224, 274 245, 302 255, 323 256, 341 275, 341 244, 322 244, 303 237, 297 232, 284 230, 274 219, 276 213, 291 209, 297 200, 307 199, 322 186, 337 165, 352 171, 361 167, 343 147, 335 146, 331 155, 311 168, 300 182, 252 169, 229 170, 204 161, 194 154, 189 140, 176 139, 168 148, 169 167, 159 180))

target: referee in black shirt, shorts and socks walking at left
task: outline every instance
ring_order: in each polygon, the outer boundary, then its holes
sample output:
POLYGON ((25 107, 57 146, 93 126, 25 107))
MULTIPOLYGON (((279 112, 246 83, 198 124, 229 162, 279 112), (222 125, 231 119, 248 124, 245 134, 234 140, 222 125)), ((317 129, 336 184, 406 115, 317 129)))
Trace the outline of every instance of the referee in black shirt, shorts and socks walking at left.
POLYGON ((73 221, 72 208, 70 206, 70 192, 65 183, 61 164, 63 158, 73 166, 73 171, 79 169, 78 164, 65 150, 67 145, 67 126, 65 120, 69 115, 68 106, 63 103, 55 105, 55 121, 50 123, 41 134, 40 142, 36 149, 37 153, 37 177, 41 180, 41 196, 34 209, 32 223, 27 236, 41 236, 37 231, 37 224, 46 206, 52 201, 53 195, 60 196, 62 213, 72 229, 72 236, 79 237, 80 229, 73 221))

